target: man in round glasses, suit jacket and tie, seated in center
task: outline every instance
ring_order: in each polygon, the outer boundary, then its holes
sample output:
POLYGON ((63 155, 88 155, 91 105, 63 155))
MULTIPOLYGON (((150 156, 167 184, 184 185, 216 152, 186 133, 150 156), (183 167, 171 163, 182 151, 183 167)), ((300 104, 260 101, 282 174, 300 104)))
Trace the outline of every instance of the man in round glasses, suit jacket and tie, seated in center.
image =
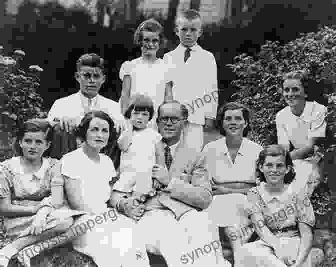
POLYGON ((156 123, 162 141, 152 168, 156 195, 138 203, 132 195, 113 191, 109 205, 138 221, 137 231, 147 250, 162 254, 169 267, 184 266, 189 260, 194 266, 228 267, 220 245, 203 252, 207 244, 219 240, 219 233, 200 212, 212 201, 210 175, 201 152, 180 138, 187 117, 188 110, 178 101, 158 107, 156 123))

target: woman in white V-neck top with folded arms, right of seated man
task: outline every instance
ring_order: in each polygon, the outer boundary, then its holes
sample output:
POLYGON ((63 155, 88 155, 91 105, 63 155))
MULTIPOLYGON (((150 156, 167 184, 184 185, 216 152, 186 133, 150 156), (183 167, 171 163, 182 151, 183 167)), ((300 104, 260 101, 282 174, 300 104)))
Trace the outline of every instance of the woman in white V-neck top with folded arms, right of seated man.
POLYGON ((245 137, 250 126, 249 111, 244 105, 236 102, 222 105, 218 125, 224 137, 209 142, 203 148, 207 169, 212 176, 214 196, 205 212, 209 213, 214 223, 225 227, 235 252, 246 241, 243 239, 250 236, 243 237, 236 232, 240 228, 247 229, 250 223, 244 211, 246 193, 255 186, 255 160, 262 147, 245 137))

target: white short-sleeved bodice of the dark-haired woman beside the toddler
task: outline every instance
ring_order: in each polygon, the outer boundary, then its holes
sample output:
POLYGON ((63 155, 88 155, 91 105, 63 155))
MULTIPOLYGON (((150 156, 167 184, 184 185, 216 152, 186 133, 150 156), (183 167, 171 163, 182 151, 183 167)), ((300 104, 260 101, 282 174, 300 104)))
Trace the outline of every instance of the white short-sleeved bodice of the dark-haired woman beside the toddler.
POLYGON ((96 213, 106 210, 105 202, 110 196, 109 181, 116 176, 113 161, 107 155, 99 155, 100 161, 94 162, 82 148, 77 148, 61 158, 61 174, 80 180, 78 193, 96 213))

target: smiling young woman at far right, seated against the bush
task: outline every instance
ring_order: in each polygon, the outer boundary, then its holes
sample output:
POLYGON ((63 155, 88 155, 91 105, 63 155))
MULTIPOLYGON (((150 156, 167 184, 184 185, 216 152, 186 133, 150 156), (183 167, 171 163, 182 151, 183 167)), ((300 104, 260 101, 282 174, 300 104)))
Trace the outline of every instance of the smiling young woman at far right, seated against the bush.
POLYGON ((282 95, 288 106, 276 114, 277 142, 290 151, 296 172, 291 186, 297 191, 304 188, 309 195, 321 176, 318 167, 321 157, 314 153, 314 145, 317 137, 325 137, 326 127, 326 107, 308 101, 312 93, 318 92, 312 83, 304 71, 287 73, 282 95))

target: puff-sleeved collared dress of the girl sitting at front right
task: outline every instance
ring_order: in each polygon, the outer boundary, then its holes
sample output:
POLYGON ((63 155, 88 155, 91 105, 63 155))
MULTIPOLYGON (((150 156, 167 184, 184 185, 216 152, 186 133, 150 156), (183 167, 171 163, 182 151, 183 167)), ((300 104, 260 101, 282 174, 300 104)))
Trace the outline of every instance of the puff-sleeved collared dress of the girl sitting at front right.
MULTIPOLYGON (((280 244, 285 249, 291 260, 296 260, 300 246, 300 232, 298 222, 306 223, 313 227, 315 224, 314 212, 307 194, 298 194, 290 186, 280 196, 271 196, 265 189, 265 182, 253 187, 247 194, 249 206, 246 213, 261 213, 264 221, 259 227, 268 229, 279 238, 280 244)), ((310 257, 301 265, 310 266, 310 257)), ((236 253, 234 266, 242 267, 285 267, 279 260, 272 246, 263 240, 244 244, 236 253)))

